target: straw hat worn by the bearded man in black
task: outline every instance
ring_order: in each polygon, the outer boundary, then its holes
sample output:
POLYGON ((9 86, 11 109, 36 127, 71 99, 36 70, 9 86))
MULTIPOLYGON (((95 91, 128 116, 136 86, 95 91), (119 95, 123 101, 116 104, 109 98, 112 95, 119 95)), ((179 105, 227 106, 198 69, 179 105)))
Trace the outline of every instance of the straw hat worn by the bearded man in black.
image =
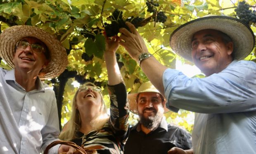
MULTIPOLYGON (((142 83, 140 85, 137 93, 128 94, 130 111, 132 113, 138 114, 136 98, 137 98, 137 95, 141 92, 157 92, 160 94, 160 92, 154 87, 154 85, 152 85, 151 82, 142 83)), ((165 101, 166 101, 166 99, 165 99, 165 101)), ((168 108, 166 108, 166 106, 164 106, 164 113, 167 113, 169 111, 170 110, 168 108)))

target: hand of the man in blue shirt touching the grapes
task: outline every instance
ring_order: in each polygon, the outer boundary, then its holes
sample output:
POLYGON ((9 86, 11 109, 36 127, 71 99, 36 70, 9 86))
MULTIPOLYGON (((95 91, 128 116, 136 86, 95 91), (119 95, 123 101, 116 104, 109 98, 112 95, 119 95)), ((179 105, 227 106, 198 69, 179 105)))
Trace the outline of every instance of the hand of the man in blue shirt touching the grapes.
POLYGON ((120 28, 119 32, 122 34, 119 44, 126 48, 130 56, 137 61, 141 53, 148 53, 147 46, 134 25, 129 22, 126 22, 126 25, 131 32, 125 28, 120 28))

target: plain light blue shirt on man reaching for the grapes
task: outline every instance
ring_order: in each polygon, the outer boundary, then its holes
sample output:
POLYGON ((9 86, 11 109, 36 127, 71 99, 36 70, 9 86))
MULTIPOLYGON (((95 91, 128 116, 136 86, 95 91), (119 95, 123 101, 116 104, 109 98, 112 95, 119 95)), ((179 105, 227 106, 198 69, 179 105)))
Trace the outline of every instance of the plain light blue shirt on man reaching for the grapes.
POLYGON ((234 60, 206 78, 163 74, 166 106, 195 113, 194 154, 256 154, 256 63, 234 60))

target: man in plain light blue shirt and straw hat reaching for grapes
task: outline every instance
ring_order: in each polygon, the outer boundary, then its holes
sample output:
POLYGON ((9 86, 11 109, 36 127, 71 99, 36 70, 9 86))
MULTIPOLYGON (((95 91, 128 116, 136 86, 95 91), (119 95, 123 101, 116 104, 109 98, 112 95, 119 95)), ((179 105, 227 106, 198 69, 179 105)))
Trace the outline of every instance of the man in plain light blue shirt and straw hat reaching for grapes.
POLYGON ((251 28, 228 16, 206 16, 177 28, 171 48, 206 75, 188 78, 160 64, 127 25, 131 32, 120 29, 120 44, 168 98, 167 108, 196 112, 193 149, 175 147, 168 154, 256 154, 256 63, 243 60, 254 48, 251 28))

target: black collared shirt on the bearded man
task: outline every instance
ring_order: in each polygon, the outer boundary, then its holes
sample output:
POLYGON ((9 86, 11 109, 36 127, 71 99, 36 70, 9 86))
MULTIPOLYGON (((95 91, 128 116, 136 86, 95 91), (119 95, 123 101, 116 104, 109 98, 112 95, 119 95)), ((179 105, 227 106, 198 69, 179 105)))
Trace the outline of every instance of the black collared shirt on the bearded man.
POLYGON ((148 134, 140 130, 140 124, 130 128, 124 154, 167 154, 172 147, 191 149, 191 141, 190 133, 167 124, 163 118, 159 127, 148 134))

